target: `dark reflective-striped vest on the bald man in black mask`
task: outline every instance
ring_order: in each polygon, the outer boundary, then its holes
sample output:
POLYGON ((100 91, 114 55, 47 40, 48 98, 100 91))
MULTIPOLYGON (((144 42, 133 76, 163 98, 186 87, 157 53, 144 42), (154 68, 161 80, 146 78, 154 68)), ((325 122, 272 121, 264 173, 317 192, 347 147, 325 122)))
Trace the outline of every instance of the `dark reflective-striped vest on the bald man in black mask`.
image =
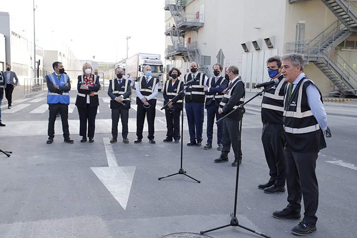
MULTIPOLYGON (((204 73, 198 73, 197 78, 200 80, 192 82, 191 86, 186 89, 185 101, 190 103, 191 101, 195 103, 204 103, 204 78, 206 75, 204 73)), ((192 79, 191 73, 184 76, 185 83, 192 79)))

